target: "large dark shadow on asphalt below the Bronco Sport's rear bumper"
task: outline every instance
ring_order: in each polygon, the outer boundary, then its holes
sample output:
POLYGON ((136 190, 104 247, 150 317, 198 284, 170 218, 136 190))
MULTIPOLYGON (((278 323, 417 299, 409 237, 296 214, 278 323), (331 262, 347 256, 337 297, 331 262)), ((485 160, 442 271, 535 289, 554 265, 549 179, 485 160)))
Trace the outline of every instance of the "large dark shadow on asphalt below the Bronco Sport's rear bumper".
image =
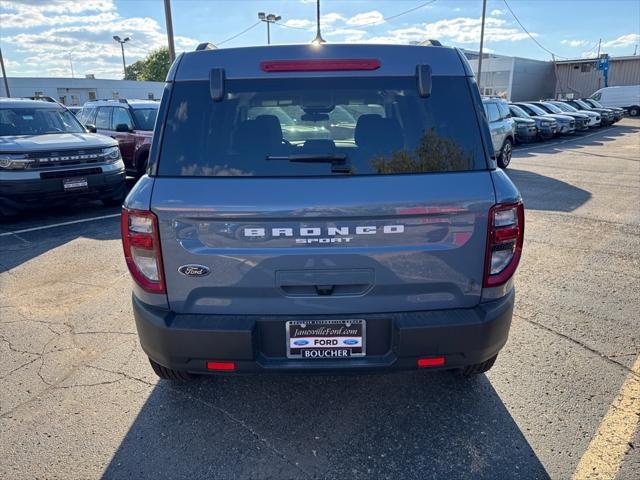
POLYGON ((103 478, 549 478, 484 375, 160 382, 103 478))

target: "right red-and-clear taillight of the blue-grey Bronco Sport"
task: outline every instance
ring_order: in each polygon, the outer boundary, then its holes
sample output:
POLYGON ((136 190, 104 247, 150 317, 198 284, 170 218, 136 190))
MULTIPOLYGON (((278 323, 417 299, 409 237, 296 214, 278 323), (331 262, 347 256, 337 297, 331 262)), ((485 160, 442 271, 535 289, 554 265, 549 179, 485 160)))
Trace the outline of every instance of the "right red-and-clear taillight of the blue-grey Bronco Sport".
POLYGON ((522 202, 499 204, 489 210, 484 286, 497 287, 515 273, 524 240, 522 202))

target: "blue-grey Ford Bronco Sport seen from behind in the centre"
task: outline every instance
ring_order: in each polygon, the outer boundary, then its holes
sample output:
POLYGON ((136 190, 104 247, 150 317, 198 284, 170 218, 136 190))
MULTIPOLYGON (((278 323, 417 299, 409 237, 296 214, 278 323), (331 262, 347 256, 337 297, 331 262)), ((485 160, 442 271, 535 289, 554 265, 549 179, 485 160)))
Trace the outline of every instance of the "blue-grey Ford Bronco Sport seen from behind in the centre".
POLYGON ((524 209, 466 59, 309 48, 199 47, 169 73, 158 148, 122 211, 154 371, 488 370, 524 209), (277 116, 252 116, 275 104, 305 125, 348 106, 353 135, 286 142, 277 116))

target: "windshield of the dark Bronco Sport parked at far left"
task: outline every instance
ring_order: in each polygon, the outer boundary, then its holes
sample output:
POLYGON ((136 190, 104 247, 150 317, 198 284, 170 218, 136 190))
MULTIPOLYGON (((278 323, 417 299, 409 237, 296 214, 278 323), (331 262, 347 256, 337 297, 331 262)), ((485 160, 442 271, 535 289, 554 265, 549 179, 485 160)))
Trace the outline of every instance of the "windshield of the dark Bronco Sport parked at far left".
POLYGON ((49 133, 82 133, 78 119, 62 108, 0 109, 0 136, 45 135, 49 133))

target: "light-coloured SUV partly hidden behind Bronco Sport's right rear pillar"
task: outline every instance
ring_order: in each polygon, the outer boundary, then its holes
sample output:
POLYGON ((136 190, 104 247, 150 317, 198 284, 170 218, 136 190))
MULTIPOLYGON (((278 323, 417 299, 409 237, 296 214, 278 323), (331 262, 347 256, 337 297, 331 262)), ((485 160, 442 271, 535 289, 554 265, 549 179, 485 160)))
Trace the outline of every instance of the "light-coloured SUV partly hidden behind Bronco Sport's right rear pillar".
POLYGON ((511 118, 509 104, 500 97, 483 97, 482 105, 489 122, 491 143, 500 168, 507 168, 513 154, 516 124, 511 118))

